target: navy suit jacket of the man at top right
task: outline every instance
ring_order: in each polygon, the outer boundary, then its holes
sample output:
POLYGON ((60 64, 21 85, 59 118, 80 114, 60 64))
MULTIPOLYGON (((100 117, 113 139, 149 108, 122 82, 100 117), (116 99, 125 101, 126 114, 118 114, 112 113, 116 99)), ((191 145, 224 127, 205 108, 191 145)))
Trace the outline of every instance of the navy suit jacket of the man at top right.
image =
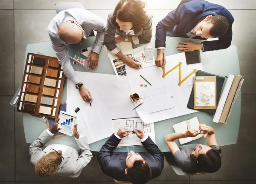
MULTIPOLYGON (((182 0, 177 9, 171 11, 156 27, 156 48, 165 47, 166 35, 175 37, 187 37, 200 20, 208 15, 222 15, 227 18, 229 28, 225 35, 218 40, 204 41, 204 51, 227 49, 232 40, 232 14, 223 6, 209 3, 204 0, 182 0)), ((201 39, 202 37, 194 37, 201 39)))

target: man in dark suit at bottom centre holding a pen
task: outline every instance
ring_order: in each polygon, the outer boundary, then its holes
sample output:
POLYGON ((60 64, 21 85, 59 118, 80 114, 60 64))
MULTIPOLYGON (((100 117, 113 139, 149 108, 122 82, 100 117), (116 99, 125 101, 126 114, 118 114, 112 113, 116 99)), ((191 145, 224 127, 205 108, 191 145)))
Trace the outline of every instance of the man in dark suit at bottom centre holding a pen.
POLYGON ((145 184, 159 176, 163 170, 164 155, 148 135, 142 130, 134 129, 133 133, 140 138, 148 152, 135 153, 114 152, 117 145, 130 133, 130 129, 120 128, 117 134, 111 135, 102 146, 97 156, 103 173, 119 181, 130 181, 133 184, 145 184))

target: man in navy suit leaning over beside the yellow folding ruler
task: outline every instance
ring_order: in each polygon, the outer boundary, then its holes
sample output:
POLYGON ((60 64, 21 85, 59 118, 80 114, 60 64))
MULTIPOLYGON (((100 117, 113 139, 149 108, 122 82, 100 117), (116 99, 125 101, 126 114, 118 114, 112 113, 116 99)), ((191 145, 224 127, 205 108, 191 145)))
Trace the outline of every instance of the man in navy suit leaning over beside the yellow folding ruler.
MULTIPOLYGON (((180 52, 194 50, 205 52, 227 49, 232 40, 233 22, 232 14, 223 6, 204 0, 182 0, 177 9, 171 11, 157 24, 156 65, 163 68, 163 50, 166 46, 166 36, 201 40, 218 37, 218 40, 204 41, 202 43, 193 41, 180 42, 180 46, 176 46, 180 52)), ((166 60, 164 65, 165 62, 166 60)))

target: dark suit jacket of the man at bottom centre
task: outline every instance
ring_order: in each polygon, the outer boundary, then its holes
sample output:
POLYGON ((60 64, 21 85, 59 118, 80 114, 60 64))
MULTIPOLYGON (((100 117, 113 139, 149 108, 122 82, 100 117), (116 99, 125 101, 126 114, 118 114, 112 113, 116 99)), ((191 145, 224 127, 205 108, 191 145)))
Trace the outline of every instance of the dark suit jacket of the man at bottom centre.
MULTIPOLYGON (((127 175, 125 175, 126 157, 128 152, 113 152, 120 141, 121 140, 113 134, 102 146, 97 158, 105 175, 119 181, 130 181, 127 175)), ((159 150, 149 136, 142 142, 142 144, 148 152, 140 152, 139 154, 151 168, 151 179, 156 178, 163 170, 163 152, 159 150)))

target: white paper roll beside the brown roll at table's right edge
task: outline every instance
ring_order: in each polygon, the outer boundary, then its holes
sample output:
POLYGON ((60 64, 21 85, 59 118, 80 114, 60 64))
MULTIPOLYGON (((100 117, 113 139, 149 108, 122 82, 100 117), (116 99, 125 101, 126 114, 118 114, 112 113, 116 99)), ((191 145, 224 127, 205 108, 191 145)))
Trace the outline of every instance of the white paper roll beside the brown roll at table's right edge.
POLYGON ((230 88, 232 86, 234 77, 235 77, 234 75, 228 75, 228 77, 227 77, 227 82, 226 82, 226 84, 224 86, 224 89, 222 91, 221 99, 218 103, 215 115, 214 115, 213 120, 212 120, 215 123, 218 123, 220 121, 221 113, 222 113, 222 110, 224 108, 225 102, 227 100, 227 95, 228 95, 228 93, 230 91, 230 88))

